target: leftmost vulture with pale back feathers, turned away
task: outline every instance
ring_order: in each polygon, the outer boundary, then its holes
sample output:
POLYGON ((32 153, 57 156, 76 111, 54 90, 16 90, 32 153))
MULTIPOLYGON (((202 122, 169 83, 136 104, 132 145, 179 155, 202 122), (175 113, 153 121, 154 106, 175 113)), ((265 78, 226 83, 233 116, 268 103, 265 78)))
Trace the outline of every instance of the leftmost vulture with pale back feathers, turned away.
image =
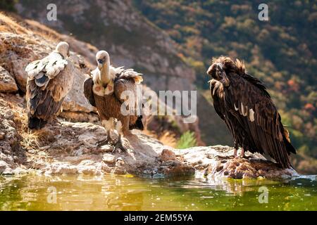
POLYGON ((42 129, 61 109, 63 99, 73 86, 73 63, 69 45, 60 42, 56 49, 25 68, 27 72, 27 115, 30 129, 42 129))

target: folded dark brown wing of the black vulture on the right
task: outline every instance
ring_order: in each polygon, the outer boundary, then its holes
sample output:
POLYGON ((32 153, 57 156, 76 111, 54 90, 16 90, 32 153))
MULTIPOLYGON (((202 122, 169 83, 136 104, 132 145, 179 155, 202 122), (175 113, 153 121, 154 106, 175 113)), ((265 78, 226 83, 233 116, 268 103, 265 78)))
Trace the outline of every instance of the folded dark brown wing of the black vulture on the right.
POLYGON ((247 133, 250 146, 270 155, 283 167, 290 167, 290 150, 280 115, 270 95, 259 80, 230 74, 230 86, 225 89, 225 105, 247 133), (251 112, 251 113, 250 113, 251 112))

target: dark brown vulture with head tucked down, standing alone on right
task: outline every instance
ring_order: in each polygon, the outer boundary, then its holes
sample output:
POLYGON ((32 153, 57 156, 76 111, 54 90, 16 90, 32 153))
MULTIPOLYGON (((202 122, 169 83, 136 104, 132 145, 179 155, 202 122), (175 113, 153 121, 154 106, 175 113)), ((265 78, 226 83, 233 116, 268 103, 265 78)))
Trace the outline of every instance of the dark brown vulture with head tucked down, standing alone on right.
POLYGON ((213 106, 235 141, 235 157, 241 147, 242 157, 249 150, 273 158, 282 168, 292 167, 289 155, 296 150, 263 83, 240 60, 224 56, 213 60, 207 74, 213 106))

